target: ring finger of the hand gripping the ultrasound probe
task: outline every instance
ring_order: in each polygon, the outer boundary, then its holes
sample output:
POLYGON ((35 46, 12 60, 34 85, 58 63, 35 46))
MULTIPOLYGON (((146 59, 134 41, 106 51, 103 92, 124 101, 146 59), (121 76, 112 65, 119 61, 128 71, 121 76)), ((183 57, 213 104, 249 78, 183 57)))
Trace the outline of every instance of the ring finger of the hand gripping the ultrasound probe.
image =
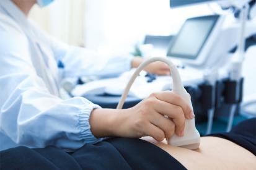
POLYGON ((162 114, 154 114, 151 123, 159 127, 165 134, 166 138, 170 138, 175 132, 175 124, 162 114))

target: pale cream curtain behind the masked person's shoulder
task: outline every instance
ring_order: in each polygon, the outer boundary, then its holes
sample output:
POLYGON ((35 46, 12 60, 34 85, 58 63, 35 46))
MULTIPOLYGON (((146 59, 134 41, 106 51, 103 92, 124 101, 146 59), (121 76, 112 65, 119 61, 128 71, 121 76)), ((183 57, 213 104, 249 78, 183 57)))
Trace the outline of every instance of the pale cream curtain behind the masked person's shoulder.
POLYGON ((55 38, 70 45, 84 45, 85 0, 58 0, 40 9, 34 6, 30 19, 55 38))

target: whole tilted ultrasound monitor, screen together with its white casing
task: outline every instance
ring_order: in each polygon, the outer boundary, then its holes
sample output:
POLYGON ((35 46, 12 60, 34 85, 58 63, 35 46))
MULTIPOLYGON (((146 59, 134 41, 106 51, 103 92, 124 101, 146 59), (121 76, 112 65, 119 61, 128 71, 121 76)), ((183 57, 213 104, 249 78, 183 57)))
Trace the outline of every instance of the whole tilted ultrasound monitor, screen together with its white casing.
POLYGON ((170 43, 167 56, 185 64, 211 65, 218 59, 219 52, 227 51, 218 45, 223 30, 223 15, 208 15, 187 19, 179 33, 170 43), (217 49, 218 50, 214 50, 217 49), (221 49, 221 50, 219 50, 221 49), (211 57, 212 56, 212 57, 211 57), (209 61, 211 59, 211 61, 209 61), (206 62, 208 62, 206 64, 206 62))

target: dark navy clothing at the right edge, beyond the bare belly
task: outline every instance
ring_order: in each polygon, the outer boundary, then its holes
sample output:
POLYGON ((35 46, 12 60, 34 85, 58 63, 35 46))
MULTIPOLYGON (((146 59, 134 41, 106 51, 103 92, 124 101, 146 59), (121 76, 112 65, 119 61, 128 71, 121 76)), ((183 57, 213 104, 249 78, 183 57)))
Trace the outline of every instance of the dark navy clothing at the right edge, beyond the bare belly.
POLYGON ((233 127, 231 132, 211 134, 208 136, 230 140, 231 142, 249 150, 256 156, 256 118, 247 119, 237 124, 233 127))

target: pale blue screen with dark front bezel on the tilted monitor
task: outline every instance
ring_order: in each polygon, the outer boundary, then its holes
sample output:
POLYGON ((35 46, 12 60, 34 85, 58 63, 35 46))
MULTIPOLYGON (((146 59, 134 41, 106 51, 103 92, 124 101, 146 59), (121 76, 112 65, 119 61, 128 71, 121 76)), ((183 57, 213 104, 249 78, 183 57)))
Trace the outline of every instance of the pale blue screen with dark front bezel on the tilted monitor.
POLYGON ((167 56, 196 59, 205 45, 219 15, 188 19, 169 46, 167 56))

